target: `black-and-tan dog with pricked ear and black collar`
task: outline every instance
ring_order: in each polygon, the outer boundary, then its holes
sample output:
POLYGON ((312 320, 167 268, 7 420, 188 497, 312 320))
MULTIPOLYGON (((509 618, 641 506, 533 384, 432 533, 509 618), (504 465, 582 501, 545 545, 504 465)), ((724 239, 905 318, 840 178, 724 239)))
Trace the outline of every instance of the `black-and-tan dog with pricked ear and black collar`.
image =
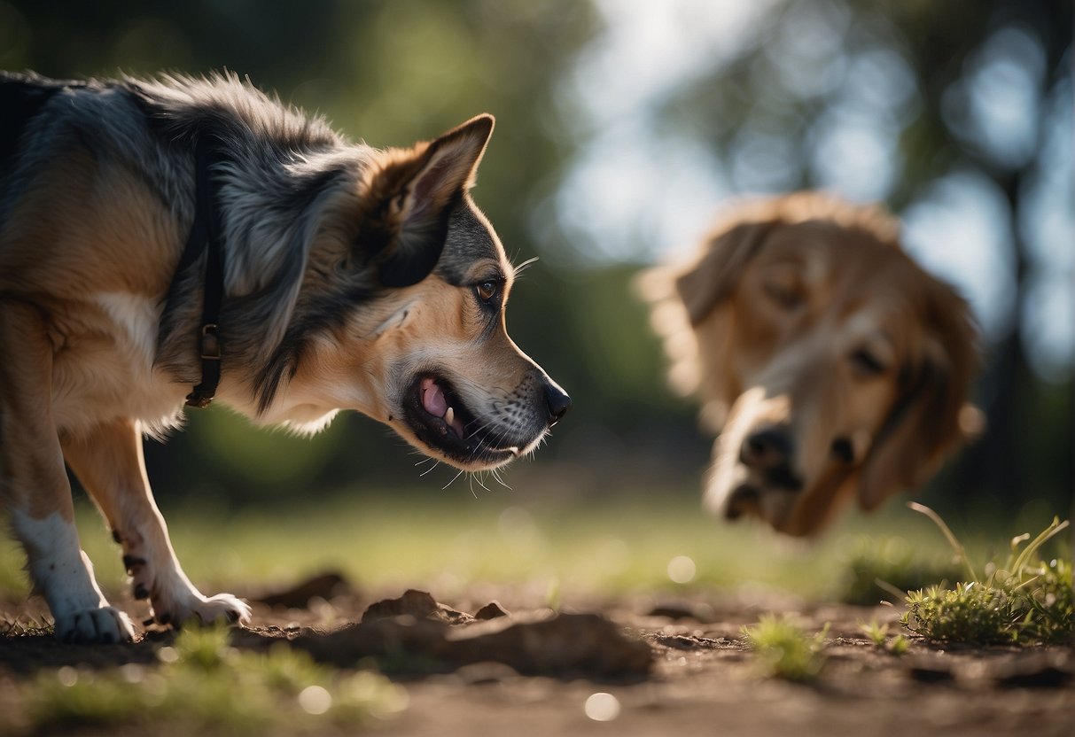
POLYGON ((57 636, 133 632, 64 462, 157 622, 248 618, 184 575, 146 479, 185 396, 303 433, 356 409, 468 471, 567 411, 506 333, 513 268, 469 193, 492 127, 378 150, 233 76, 0 77, 2 495, 57 636))

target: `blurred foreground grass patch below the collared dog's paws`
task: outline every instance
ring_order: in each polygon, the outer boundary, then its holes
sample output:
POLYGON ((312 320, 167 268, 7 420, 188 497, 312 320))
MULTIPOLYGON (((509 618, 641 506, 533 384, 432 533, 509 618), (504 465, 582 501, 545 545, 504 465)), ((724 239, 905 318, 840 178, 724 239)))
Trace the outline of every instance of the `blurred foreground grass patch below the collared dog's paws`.
POLYGON ((267 653, 230 647, 225 628, 185 630, 160 664, 42 671, 23 688, 31 732, 168 723, 214 734, 291 734, 318 724, 367 726, 405 706, 371 671, 334 673, 285 642, 267 653))

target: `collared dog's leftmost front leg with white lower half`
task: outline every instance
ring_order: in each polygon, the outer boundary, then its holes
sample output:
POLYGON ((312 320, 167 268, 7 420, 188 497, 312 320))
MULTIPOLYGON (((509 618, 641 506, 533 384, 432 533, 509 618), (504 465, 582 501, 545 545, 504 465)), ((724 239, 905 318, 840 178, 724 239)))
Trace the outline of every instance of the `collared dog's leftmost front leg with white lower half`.
POLYGON ((34 590, 56 620, 56 636, 130 640, 130 620, 109 606, 78 544, 52 414, 53 350, 37 307, 0 299, 0 496, 26 548, 34 590))

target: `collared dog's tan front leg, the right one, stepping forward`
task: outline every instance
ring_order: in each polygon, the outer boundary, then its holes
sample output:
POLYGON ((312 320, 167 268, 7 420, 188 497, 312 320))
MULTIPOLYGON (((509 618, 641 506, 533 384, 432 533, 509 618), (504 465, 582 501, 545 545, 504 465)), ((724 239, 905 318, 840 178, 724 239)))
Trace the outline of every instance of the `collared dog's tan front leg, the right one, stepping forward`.
POLYGON ((153 501, 137 421, 113 420, 89 435, 64 439, 63 456, 123 546, 134 596, 149 599, 157 622, 249 619, 243 602, 231 594, 203 596, 180 567, 164 518, 153 501))

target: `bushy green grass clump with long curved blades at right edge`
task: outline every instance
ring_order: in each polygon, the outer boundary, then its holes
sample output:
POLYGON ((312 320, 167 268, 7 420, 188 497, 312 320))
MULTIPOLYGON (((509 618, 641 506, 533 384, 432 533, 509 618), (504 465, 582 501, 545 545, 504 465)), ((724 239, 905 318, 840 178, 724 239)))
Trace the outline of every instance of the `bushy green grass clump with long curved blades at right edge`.
POLYGON ((936 642, 968 645, 1034 645, 1075 642, 1072 564, 1060 558, 1046 562, 1042 546, 1069 526, 1054 518, 1033 540, 1012 539, 1007 559, 990 563, 979 577, 944 521, 929 507, 911 503, 941 529, 963 563, 968 580, 907 593, 907 611, 900 618, 909 632, 936 642), (1030 543, 1023 546, 1023 543, 1030 543))

